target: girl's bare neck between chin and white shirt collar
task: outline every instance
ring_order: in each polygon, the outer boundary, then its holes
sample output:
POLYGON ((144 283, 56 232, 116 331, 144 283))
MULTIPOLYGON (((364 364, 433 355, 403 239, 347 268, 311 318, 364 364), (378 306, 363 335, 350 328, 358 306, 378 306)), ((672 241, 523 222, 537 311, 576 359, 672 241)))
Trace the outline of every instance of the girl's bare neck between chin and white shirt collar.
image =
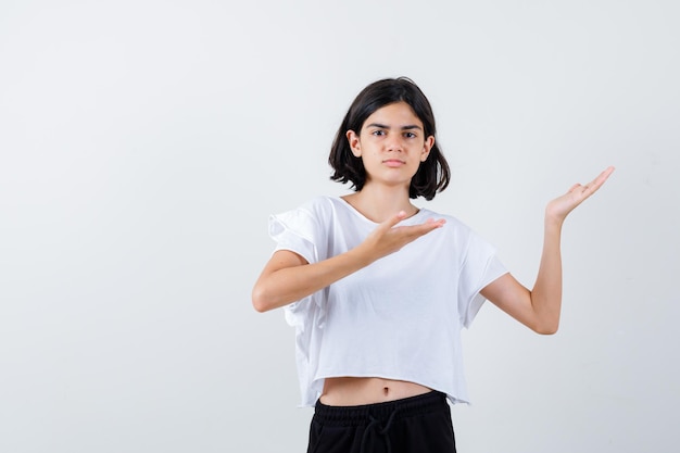
POLYGON ((364 186, 358 192, 342 198, 366 218, 376 223, 382 223, 400 211, 404 211, 407 217, 418 212, 418 209, 411 204, 408 188, 402 190, 364 186))

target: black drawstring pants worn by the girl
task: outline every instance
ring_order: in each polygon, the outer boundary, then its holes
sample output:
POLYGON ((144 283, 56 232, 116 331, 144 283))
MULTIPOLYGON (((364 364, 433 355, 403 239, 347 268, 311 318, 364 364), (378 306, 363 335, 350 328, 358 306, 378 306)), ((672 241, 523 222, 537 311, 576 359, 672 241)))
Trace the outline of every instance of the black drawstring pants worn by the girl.
POLYGON ((387 403, 316 402, 307 453, 455 453, 446 397, 429 392, 387 403))

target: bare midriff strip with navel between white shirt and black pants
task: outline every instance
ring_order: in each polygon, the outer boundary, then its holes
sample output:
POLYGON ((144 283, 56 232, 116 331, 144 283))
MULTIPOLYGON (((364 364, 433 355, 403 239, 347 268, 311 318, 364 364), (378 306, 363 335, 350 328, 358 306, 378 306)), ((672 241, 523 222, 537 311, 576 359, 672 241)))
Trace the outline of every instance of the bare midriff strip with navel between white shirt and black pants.
POLYGON ((417 397, 432 391, 419 383, 382 378, 326 378, 322 403, 329 406, 356 406, 417 397))

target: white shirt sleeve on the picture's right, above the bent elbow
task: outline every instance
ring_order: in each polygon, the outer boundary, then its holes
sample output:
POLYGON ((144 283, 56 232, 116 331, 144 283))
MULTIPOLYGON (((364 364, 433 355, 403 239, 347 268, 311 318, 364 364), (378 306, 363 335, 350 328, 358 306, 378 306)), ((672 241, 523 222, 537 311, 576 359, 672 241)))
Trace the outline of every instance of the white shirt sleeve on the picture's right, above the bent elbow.
POLYGON ((486 301, 479 291, 506 273, 495 249, 471 234, 458 280, 458 313, 463 326, 470 326, 486 301))

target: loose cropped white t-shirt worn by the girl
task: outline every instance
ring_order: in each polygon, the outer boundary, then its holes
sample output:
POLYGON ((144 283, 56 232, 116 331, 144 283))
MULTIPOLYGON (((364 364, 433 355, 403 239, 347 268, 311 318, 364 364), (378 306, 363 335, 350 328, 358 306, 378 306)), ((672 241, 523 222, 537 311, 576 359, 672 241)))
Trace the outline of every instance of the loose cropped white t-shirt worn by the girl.
MULTIPOLYGON (((479 291, 507 270, 495 250, 456 218, 421 209, 399 225, 445 218, 438 228, 361 270, 285 307, 295 328, 302 406, 328 377, 405 380, 467 403, 461 329, 484 299, 479 291)), ((358 246, 373 231, 338 197, 318 197, 273 215, 276 250, 317 263, 358 246)))

